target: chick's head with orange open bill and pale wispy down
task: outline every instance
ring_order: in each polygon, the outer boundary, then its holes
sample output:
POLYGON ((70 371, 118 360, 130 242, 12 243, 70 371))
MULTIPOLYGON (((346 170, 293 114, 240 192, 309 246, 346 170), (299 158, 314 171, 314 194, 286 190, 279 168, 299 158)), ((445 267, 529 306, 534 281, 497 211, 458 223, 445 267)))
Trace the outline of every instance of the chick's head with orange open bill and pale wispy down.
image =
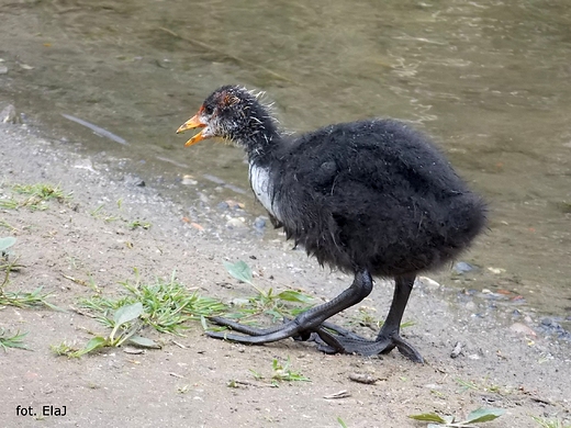
POLYGON ((177 129, 177 134, 197 127, 202 129, 184 146, 222 137, 248 148, 256 146, 255 142, 261 138, 268 142, 276 133, 273 120, 258 101, 258 95, 236 86, 225 86, 212 92, 198 113, 177 129))

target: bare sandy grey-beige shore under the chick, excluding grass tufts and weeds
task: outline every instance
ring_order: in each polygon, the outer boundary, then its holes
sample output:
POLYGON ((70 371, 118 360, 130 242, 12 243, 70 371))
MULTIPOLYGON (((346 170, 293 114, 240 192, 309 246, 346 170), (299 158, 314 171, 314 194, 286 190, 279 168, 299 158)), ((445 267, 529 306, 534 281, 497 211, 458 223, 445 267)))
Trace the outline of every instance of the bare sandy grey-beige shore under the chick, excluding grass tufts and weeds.
MULTIPOLYGON (((45 211, 2 210, 0 236, 15 236, 14 256, 25 267, 12 272, 8 291, 43 286, 51 302, 67 312, 0 308, 0 329, 27 331, 31 351, 0 350, 0 425, 5 427, 424 427, 407 415, 436 412, 464 416, 478 407, 506 410, 493 427, 538 427, 531 416, 571 418, 569 342, 535 335, 533 311, 512 318, 513 307, 489 309, 486 301, 458 297, 458 289, 430 281, 417 284, 405 314, 415 325, 404 335, 426 359, 415 364, 398 352, 382 358, 326 356, 311 343, 284 340, 245 347, 206 338, 199 324, 186 337, 152 334, 164 343, 142 354, 104 349, 80 359, 56 357, 51 345, 85 343, 88 331, 105 333, 94 319, 74 312, 93 291, 64 275, 87 281, 103 293, 117 293, 119 282, 169 277, 175 270, 188 288, 229 301, 251 295, 248 285, 229 277, 223 260, 246 260, 262 288, 301 288, 331 299, 350 283, 318 268, 303 251, 281 240, 262 240, 246 227, 228 229, 227 214, 215 203, 190 201, 193 209, 163 200, 149 185, 110 168, 119 159, 86 159, 72 143, 46 140, 25 125, 0 124, 0 198, 12 184, 48 182, 72 192, 67 203, 49 202, 45 211), (121 200, 121 207, 116 201, 121 200), (90 214, 102 211, 119 219, 90 214), (202 214, 200 214, 202 211, 202 214), (191 222, 183 217, 195 214, 191 222), (149 222, 131 229, 128 222, 149 222), (527 325, 527 326, 526 326, 527 325), (516 331, 517 330, 517 331, 516 331), (175 343, 175 341, 178 343, 175 343), (462 353, 450 358, 455 345, 462 353), (180 345, 180 346, 179 346, 180 345), (183 346, 183 347, 181 347, 183 346), (273 359, 291 359, 311 382, 271 387, 255 370, 271 375, 273 359), (377 379, 351 381, 351 374, 377 379), (229 381, 238 387, 229 387, 229 381), (472 382, 464 388, 460 381, 472 382), (340 398, 332 398, 339 392, 340 398), (18 416, 19 408, 36 416, 18 416), (65 416, 41 416, 55 406, 65 416)), ((251 203, 251 196, 244 196, 251 203)), ((366 305, 387 313, 392 285, 379 281, 366 305)), ((348 316, 355 311, 348 311, 348 316)), ((344 319, 338 319, 343 324, 344 319)), ((362 331, 361 331, 362 333, 362 331)), ((369 335, 372 331, 368 333, 369 335)), ((20 412, 22 413, 22 412, 20 412)))

